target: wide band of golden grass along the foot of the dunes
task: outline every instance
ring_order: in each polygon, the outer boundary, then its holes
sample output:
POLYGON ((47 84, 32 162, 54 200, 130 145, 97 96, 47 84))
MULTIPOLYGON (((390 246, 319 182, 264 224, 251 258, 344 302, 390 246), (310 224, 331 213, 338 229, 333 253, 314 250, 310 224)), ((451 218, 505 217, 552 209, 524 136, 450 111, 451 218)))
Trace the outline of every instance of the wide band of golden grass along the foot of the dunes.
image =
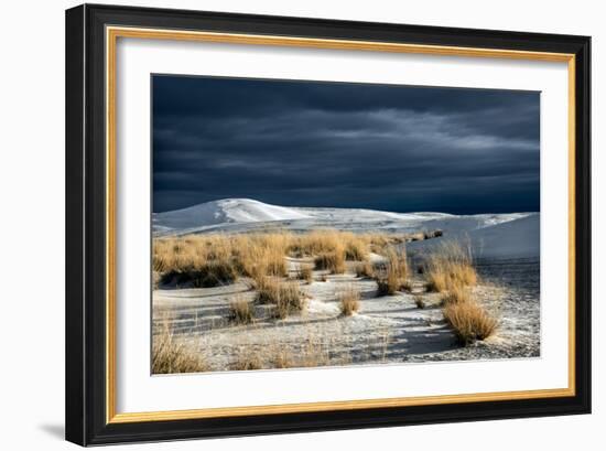
MULTIPOLYGON (((389 257, 390 245, 404 241, 403 235, 334 229, 187 235, 155 238, 152 262, 162 283, 214 287, 231 283, 239 276, 286 277, 286 256, 313 257, 317 269, 343 273, 347 270, 346 260, 367 264, 370 251, 389 257)), ((371 266, 365 268, 370 276, 371 266)), ((310 280, 309 272, 304 277, 310 280)))

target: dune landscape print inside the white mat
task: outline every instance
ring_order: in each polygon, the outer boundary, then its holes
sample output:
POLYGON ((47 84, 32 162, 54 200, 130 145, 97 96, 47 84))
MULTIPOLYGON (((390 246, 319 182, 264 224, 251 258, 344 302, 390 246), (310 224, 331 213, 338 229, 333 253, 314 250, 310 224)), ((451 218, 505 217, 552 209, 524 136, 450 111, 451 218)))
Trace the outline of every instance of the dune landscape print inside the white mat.
POLYGON ((152 374, 541 356, 539 92, 151 96, 152 374))

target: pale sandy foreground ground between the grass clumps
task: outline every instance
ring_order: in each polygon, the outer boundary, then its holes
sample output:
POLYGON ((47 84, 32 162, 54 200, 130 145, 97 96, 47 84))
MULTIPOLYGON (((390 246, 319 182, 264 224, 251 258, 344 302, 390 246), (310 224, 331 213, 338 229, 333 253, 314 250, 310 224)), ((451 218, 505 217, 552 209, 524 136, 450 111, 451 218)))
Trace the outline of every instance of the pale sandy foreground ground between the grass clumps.
MULTIPOLYGON (((291 276, 301 265, 313 262, 289 258, 291 276)), ((412 293, 377 297, 376 282, 357 278, 351 268, 344 275, 314 271, 313 282, 299 281, 309 297, 304 314, 271 320, 268 305, 256 305, 256 321, 248 325, 228 321, 229 302, 235 297, 255 297, 246 280, 216 288, 158 289, 153 291, 153 330, 158 334, 169 326, 197 350, 212 371, 230 369, 242 352, 259 356, 264 368, 272 368, 272 358, 283 353, 291 355, 296 366, 296 359, 310 352, 310 344, 313 354, 327 355, 321 365, 331 366, 538 356, 538 264, 496 264, 478 269, 486 283, 475 287, 474 293, 499 319, 499 326, 495 336, 467 347, 456 343, 442 315, 440 294, 424 292, 421 276, 413 275, 412 283, 413 292, 423 299, 423 309, 415 305, 412 293), (354 316, 340 315, 338 308, 338 294, 347 289, 361 294, 360 310, 354 316)))

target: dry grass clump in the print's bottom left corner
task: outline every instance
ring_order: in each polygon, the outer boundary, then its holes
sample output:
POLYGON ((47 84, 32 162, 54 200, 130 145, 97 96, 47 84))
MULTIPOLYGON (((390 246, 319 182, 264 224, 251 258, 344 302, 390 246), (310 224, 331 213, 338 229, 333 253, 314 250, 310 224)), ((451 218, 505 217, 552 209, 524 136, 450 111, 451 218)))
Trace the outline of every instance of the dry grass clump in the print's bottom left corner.
POLYGON ((183 342, 177 342, 169 327, 153 336, 152 374, 199 373, 209 371, 201 355, 183 342))

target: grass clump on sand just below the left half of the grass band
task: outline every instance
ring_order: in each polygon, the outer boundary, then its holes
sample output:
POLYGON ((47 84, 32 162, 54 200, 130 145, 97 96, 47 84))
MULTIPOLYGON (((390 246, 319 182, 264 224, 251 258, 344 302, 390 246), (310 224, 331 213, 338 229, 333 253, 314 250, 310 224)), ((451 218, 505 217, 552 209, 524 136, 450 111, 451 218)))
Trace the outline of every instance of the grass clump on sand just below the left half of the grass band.
POLYGON ((296 282, 285 282, 266 277, 256 284, 256 301, 261 304, 272 304, 271 315, 285 319, 291 313, 301 313, 305 310, 305 297, 296 282))

